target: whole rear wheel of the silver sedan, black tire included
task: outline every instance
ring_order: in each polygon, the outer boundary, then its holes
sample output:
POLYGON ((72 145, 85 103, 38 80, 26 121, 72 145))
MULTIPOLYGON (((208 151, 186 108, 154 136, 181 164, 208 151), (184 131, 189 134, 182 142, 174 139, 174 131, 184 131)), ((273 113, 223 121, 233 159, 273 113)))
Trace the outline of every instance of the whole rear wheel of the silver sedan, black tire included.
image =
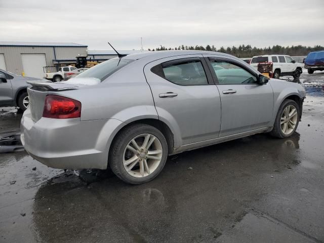
POLYGON ((117 134, 109 150, 108 165, 124 182, 143 184, 154 179, 162 171, 167 157, 168 144, 164 135, 155 127, 135 124, 117 134), (143 146, 146 139, 148 147, 143 146))

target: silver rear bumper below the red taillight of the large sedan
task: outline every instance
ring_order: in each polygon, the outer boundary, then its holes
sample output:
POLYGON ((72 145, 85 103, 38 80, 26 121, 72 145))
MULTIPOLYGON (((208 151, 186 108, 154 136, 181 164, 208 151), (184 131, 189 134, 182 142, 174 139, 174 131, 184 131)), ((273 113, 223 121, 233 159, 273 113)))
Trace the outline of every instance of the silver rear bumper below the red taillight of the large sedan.
POLYGON ((109 135, 122 123, 116 119, 79 118, 37 122, 27 109, 21 119, 21 141, 36 160, 58 169, 106 169, 109 135))

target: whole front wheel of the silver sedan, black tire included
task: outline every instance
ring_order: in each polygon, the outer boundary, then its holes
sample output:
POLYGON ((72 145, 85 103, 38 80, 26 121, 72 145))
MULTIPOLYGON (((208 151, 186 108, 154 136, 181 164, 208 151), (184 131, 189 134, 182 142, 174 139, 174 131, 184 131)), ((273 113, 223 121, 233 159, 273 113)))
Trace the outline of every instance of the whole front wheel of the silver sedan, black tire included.
POLYGON ((270 132, 270 135, 277 138, 288 138, 290 137, 297 129, 300 119, 300 107, 294 100, 284 100, 279 107, 278 113, 276 115, 273 129, 270 132), (292 113, 293 109, 296 110, 296 113, 292 113), (294 125, 295 124, 295 125, 294 125), (287 128, 287 129, 286 129, 287 128))

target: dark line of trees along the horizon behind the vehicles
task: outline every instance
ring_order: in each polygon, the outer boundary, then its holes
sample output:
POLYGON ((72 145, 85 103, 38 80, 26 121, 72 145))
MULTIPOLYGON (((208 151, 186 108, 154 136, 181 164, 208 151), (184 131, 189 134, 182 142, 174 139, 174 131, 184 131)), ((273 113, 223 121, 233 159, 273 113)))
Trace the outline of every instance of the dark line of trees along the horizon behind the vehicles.
POLYGON ((272 46, 272 47, 264 47, 264 48, 257 48, 251 47, 251 45, 239 45, 238 47, 221 47, 217 49, 214 45, 210 46, 184 46, 181 45, 175 48, 167 48, 164 46, 160 46, 155 49, 148 49, 148 51, 166 51, 166 50, 201 50, 201 51, 213 51, 213 52, 222 52, 227 53, 236 57, 244 58, 244 57, 253 57, 253 56, 260 56, 260 55, 271 55, 271 54, 282 54, 282 55, 290 55, 290 56, 307 56, 308 53, 314 51, 323 51, 324 47, 322 46, 314 46, 314 47, 306 47, 306 46, 288 46, 282 47, 279 45, 272 46))

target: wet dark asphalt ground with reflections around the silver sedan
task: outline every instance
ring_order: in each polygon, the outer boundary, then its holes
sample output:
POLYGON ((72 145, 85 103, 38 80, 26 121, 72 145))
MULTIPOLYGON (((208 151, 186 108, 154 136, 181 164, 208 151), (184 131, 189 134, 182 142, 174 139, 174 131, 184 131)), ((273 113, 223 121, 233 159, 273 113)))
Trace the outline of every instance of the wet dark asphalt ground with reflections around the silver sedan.
MULTIPOLYGON (((324 72, 300 81, 307 99, 292 137, 174 155, 144 185, 0 154, 0 242, 324 242, 324 72)), ((0 137, 19 132, 20 118, 4 108, 0 137)))

